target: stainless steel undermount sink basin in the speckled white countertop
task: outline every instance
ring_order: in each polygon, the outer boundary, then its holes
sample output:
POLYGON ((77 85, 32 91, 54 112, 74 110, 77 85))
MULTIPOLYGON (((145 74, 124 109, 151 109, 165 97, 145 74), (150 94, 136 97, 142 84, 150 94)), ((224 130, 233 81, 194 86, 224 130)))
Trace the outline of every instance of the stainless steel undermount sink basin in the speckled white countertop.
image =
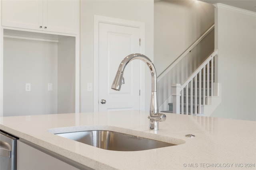
POLYGON ((116 151, 138 151, 174 146, 174 144, 171 143, 155 141, 114 131, 94 130, 57 133, 55 135, 101 149, 116 151))

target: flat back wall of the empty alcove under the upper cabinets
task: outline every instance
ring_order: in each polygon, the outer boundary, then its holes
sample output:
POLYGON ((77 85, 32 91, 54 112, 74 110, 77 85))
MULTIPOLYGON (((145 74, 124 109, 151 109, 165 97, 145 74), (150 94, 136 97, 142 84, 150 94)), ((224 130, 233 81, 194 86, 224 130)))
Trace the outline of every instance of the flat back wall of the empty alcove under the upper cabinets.
POLYGON ((57 113, 57 54, 57 43, 4 38, 4 116, 57 113))

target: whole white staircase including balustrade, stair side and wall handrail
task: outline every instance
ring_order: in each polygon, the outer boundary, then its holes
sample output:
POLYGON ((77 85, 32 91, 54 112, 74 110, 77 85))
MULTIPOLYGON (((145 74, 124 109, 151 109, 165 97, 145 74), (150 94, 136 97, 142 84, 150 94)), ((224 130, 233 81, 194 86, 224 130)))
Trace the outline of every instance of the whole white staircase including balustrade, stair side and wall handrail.
MULTIPOLYGON (((205 61, 181 84, 172 84, 175 79, 168 78, 172 69, 178 65, 185 56, 196 47, 196 45, 214 29, 212 25, 201 37, 199 37, 186 51, 184 51, 166 70, 164 70, 157 78, 158 82, 164 85, 160 86, 162 94, 161 112, 187 114, 187 115, 210 115, 216 106, 221 102, 219 95, 219 84, 214 82, 214 57, 218 54, 214 50, 205 61), (170 81, 171 80, 171 81, 170 81), (172 84, 171 90, 161 90, 167 84, 172 84), (169 103, 168 103, 169 102, 169 103), (166 105, 168 104, 168 108, 166 105), (213 104, 213 105, 211 105, 213 104), (207 114, 205 114, 207 113, 207 114)), ((182 71, 182 70, 180 70, 182 71)), ((184 75, 184 74, 183 74, 184 75)), ((169 85, 170 86, 170 85, 169 85)))

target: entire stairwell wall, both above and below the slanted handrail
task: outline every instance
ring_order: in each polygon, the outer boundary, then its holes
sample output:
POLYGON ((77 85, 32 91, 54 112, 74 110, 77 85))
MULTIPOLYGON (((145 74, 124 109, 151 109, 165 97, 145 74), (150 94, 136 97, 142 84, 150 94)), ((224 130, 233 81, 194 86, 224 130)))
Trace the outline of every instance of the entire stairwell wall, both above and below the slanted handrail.
MULTIPOLYGON (((154 64, 158 75, 214 24, 214 6, 200 1, 154 3, 154 64)), ((158 81, 159 110, 172 102, 171 86, 182 83, 214 50, 214 31, 158 81)))

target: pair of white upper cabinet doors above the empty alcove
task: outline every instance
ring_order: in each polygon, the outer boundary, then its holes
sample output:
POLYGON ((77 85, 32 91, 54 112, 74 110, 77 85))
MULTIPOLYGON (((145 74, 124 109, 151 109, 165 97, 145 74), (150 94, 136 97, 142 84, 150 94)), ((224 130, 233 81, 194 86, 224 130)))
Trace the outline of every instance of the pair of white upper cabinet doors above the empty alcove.
POLYGON ((78 33, 78 0, 2 0, 2 26, 78 33))

